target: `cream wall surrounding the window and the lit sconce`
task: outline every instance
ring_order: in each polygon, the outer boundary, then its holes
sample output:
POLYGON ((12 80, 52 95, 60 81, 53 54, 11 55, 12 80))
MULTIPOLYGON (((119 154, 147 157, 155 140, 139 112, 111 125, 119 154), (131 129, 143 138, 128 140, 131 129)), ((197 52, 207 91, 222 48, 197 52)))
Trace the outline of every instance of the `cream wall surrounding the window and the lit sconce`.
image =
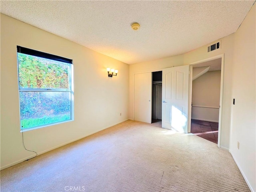
POLYGON ((74 63, 74 121, 24 132, 26 148, 42 153, 128 119, 127 64, 1 14, 1 168, 34 155, 22 146, 17 45, 74 63), (108 77, 106 67, 118 75, 108 77))

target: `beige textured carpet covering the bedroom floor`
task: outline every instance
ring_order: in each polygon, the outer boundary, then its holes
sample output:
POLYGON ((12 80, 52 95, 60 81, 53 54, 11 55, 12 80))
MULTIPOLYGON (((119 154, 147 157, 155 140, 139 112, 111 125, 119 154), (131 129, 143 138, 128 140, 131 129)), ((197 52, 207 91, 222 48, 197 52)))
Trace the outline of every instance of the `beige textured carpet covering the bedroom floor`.
POLYGON ((126 121, 1 171, 1 192, 249 192, 228 151, 126 121))

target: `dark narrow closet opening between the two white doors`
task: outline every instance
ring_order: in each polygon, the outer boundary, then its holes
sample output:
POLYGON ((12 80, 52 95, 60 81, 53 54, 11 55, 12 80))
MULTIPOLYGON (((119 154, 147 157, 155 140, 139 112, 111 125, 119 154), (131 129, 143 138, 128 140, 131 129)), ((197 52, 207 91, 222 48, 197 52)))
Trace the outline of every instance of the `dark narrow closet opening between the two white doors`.
POLYGON ((152 72, 152 123, 162 125, 162 71, 152 72))

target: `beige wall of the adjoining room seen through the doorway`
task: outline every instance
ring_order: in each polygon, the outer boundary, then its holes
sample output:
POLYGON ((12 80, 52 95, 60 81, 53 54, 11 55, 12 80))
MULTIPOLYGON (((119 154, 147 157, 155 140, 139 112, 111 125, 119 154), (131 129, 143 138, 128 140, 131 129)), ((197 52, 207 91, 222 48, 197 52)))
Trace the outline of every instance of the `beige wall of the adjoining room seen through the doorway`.
MULTIPOLYGON (((193 68, 193 72, 194 72, 193 68)), ((218 122, 220 105, 221 71, 208 71, 192 83, 192 119, 218 122), (203 106, 203 107, 196 107, 203 106)))

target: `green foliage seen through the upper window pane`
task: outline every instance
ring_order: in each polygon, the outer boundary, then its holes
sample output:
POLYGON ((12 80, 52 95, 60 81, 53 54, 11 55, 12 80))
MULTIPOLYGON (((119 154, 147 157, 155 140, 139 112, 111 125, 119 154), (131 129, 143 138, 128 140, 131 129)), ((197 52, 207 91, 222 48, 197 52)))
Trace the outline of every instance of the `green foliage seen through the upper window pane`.
POLYGON ((19 83, 22 88, 68 89, 69 64, 18 53, 19 83))

